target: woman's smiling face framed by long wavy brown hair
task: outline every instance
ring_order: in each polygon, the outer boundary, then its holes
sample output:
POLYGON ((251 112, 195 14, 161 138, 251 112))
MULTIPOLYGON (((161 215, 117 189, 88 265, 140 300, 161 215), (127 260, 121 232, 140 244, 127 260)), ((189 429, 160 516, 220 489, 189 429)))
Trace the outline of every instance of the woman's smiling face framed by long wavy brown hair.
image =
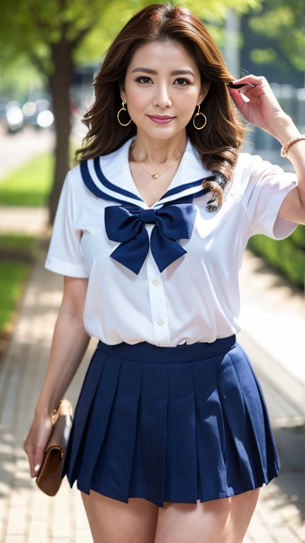
POLYGON ((133 55, 120 91, 138 129, 149 137, 168 139, 185 129, 209 86, 201 87, 198 66, 179 42, 150 42, 133 55), (172 119, 160 123, 154 115, 172 119))

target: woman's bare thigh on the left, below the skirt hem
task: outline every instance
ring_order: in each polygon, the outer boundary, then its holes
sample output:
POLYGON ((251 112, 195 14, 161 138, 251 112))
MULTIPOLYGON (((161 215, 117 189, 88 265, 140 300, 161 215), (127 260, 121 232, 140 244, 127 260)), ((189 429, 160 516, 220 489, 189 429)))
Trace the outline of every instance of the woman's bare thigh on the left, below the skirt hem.
POLYGON ((93 490, 80 492, 94 543, 153 543, 158 507, 144 498, 128 503, 93 490))

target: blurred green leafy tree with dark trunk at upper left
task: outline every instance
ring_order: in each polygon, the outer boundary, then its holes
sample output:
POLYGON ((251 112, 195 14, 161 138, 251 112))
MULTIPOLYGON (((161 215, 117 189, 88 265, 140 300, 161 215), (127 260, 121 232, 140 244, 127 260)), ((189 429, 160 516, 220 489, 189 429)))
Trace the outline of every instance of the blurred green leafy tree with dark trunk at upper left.
MULTIPOLYGON (((261 0, 185 0, 183 5, 209 23, 224 22, 227 8, 240 14, 261 0)), ((133 13, 151 1, 140 0, 1 0, 0 67, 26 56, 44 77, 52 95, 56 126, 54 184, 49 195, 49 223, 69 169, 71 132, 69 91, 76 63, 99 60, 133 13)), ((215 31, 217 35, 217 29, 215 31)), ((211 33, 213 35, 213 33, 211 33)), ((214 36, 213 36, 214 37, 214 36)), ((214 37, 215 39, 215 37, 214 37)))

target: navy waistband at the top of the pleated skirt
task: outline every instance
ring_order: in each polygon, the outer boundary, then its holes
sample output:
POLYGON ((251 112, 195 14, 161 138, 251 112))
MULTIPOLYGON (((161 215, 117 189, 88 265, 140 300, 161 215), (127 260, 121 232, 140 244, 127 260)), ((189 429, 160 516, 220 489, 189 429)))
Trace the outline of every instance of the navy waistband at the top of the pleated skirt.
POLYGON ((129 344, 125 341, 115 345, 108 345, 99 340, 97 349, 106 351, 107 354, 127 358, 128 360, 141 362, 188 362, 210 358, 232 349, 236 343, 236 334, 229 337, 218 337, 212 343, 197 341, 193 344, 183 344, 174 347, 163 347, 140 341, 129 344))

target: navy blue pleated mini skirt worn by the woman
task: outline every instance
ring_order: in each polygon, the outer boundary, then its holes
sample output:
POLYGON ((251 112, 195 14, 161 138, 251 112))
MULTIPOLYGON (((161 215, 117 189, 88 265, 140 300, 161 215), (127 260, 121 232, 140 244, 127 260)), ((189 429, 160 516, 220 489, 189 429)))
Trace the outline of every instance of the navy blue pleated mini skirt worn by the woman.
POLYGON ((61 472, 71 487, 163 507, 256 489, 279 470, 261 385, 235 334, 174 347, 98 342, 61 472))

